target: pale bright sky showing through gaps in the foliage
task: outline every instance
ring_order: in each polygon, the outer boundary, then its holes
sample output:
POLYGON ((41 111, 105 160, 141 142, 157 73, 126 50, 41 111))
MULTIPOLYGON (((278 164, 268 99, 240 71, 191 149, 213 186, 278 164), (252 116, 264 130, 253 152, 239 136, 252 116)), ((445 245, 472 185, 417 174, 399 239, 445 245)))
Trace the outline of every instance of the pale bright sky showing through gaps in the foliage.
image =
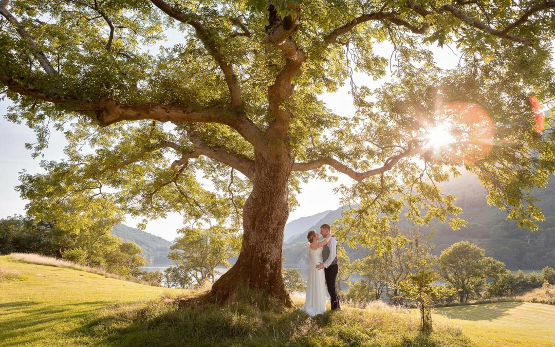
MULTIPOLYGON (((173 31, 168 34, 166 42, 159 42, 158 45, 173 46, 180 41, 182 34, 173 31)), ((155 54, 159 51, 159 46, 145 47, 150 53, 155 54)), ((390 44, 383 43, 375 48, 375 52, 381 56, 390 58, 393 47, 390 44)), ((460 56, 451 51, 450 48, 433 48, 435 60, 438 66, 442 68, 452 68, 458 61, 460 56)), ((372 81, 371 79, 355 75, 355 80, 360 86, 377 87, 388 77, 381 81, 372 81)), ((321 99, 329 108, 340 115, 352 115, 355 108, 352 105, 352 97, 349 94, 349 83, 340 88, 335 93, 325 93, 320 95, 321 99)), ((6 114, 6 108, 9 103, 7 100, 0 101, 0 115, 6 114)), ((19 184, 19 173, 26 169, 28 173, 42 173, 39 167, 41 160, 59 160, 64 157, 63 148, 65 139, 61 133, 57 133, 52 129, 52 137, 49 140, 49 146, 44 151, 44 158, 38 157, 33 159, 31 152, 26 150, 25 143, 35 142, 34 133, 24 124, 14 124, 8 122, 3 117, 0 118, 0 218, 6 218, 14 214, 25 214, 26 201, 19 197, 14 187, 19 184)), ((289 215, 289 221, 301 217, 314 215, 324 210, 334 210, 340 207, 339 196, 334 194, 333 189, 340 184, 350 184, 352 180, 346 175, 339 175, 339 180, 335 183, 323 182, 321 180, 311 180, 309 183, 301 184, 302 193, 297 196, 300 206, 292 211, 289 215)), ((127 218, 125 224, 130 227, 136 227, 142 218, 127 218)), ((158 235, 167 240, 173 240, 178 234, 176 230, 183 227, 183 220, 179 214, 170 214, 165 219, 150 220, 145 231, 158 235)))

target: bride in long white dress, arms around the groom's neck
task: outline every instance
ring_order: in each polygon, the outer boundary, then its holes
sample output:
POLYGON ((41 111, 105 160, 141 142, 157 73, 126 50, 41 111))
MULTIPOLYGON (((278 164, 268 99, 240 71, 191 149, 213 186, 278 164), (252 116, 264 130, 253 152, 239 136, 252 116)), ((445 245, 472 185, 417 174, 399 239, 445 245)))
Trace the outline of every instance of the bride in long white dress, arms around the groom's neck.
POLYGON ((309 274, 306 284, 305 305, 302 307, 311 316, 322 314, 326 311, 326 280, 324 270, 316 269, 316 265, 324 263, 322 260, 322 246, 329 242, 332 234, 318 241, 318 236, 314 230, 310 230, 306 238, 309 240, 309 274))

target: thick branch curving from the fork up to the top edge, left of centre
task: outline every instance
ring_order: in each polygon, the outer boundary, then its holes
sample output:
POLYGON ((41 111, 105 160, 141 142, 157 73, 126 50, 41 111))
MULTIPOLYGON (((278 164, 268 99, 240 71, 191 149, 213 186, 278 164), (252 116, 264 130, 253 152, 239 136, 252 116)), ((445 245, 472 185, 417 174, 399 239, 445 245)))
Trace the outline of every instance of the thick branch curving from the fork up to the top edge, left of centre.
POLYGON ((163 0, 151 0, 155 6, 161 9, 164 13, 168 14, 171 18, 174 18, 181 23, 189 24, 195 29, 196 36, 203 42, 204 47, 208 49, 210 55, 215 59, 215 61, 220 66, 221 71, 224 73, 225 82, 228 84, 229 94, 231 98, 231 105, 238 107, 241 105, 241 92, 239 88, 238 78, 233 71, 231 64, 225 61, 223 54, 218 46, 216 46, 213 38, 210 37, 210 33, 204 28, 204 26, 197 21, 193 16, 188 13, 184 13, 176 9, 175 7, 169 6, 163 0))

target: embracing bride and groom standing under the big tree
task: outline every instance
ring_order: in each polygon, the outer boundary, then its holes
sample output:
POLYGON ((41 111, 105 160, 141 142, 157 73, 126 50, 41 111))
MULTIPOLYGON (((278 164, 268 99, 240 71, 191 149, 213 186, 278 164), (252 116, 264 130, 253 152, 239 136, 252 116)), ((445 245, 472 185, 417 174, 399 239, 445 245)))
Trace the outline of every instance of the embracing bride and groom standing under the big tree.
POLYGON ((330 225, 322 224, 320 234, 324 240, 319 241, 314 230, 306 238, 309 240, 309 274, 306 283, 306 299, 303 310, 311 316, 326 311, 326 288, 330 293, 331 309, 340 310, 339 297, 335 291, 337 278, 337 240, 331 233, 330 225))

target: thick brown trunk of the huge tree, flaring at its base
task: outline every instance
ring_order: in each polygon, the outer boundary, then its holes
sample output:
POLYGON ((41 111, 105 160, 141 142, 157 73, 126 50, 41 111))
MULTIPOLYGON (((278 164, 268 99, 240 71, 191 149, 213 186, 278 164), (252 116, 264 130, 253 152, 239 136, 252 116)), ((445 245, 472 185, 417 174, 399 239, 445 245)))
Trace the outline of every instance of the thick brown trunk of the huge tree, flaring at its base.
POLYGON ((255 153, 256 174, 253 191, 243 209, 243 245, 237 262, 223 274, 207 294, 223 303, 236 298, 236 290, 251 288, 268 299, 274 296, 286 306, 294 306, 281 275, 283 234, 289 217, 288 155, 271 162, 255 153))

